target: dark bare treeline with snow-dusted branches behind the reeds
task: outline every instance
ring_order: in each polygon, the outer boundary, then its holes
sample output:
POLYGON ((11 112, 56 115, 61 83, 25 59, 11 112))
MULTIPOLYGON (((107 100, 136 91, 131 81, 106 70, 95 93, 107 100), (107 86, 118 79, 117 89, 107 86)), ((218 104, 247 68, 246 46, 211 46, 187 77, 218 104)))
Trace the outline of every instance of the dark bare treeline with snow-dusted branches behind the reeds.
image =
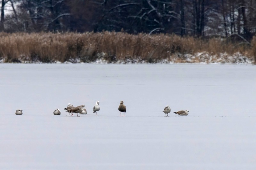
POLYGON ((0 31, 167 33, 195 37, 256 32, 252 0, 0 0, 0 31), (6 12, 9 10, 8 12, 6 12), (4 13, 5 12, 5 13, 4 13))

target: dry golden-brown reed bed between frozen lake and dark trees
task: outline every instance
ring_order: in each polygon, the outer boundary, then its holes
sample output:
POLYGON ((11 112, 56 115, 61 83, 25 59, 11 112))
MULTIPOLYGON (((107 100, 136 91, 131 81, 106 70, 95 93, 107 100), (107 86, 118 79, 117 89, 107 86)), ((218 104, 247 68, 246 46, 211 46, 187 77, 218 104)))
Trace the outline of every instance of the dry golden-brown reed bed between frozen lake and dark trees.
MULTIPOLYGON (((204 52, 215 56, 220 54, 242 54, 255 62, 256 38, 251 46, 236 45, 220 38, 201 40, 178 35, 130 35, 126 33, 0 33, 0 61, 2 62, 95 62, 103 59, 107 63, 120 61, 157 63, 201 62, 190 57, 204 52), (190 55, 187 55, 190 54, 190 55)), ((205 56, 204 56, 205 58, 205 56)), ((210 57, 208 57, 208 60, 210 57)), ((207 55, 206 55, 207 60, 207 55)))

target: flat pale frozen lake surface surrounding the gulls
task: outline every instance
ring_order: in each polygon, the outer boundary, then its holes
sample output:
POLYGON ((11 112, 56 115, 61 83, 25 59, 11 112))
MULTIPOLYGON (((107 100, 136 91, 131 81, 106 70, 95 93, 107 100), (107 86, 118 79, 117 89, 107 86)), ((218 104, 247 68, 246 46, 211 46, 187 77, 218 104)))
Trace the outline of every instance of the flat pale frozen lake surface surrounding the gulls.
POLYGON ((0 169, 256 169, 256 66, 0 64, 0 80, 0 169))

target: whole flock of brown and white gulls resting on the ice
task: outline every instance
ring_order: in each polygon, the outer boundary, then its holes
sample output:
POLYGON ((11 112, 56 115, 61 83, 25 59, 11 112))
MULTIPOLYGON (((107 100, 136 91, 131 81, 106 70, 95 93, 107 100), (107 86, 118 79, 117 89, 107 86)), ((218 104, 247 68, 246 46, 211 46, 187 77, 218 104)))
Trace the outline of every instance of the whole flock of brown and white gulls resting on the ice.
MULTIPOLYGON (((76 113, 77 117, 79 117, 79 116, 78 116, 78 113, 79 113, 79 114, 87 114, 87 111, 86 111, 86 109, 84 108, 84 104, 82 104, 82 105, 80 105, 80 106, 74 107, 72 104, 69 103, 68 106, 67 106, 66 108, 64 108, 64 109, 66 110, 66 112, 68 112, 68 115, 70 115, 70 113, 71 113, 71 116, 74 116, 74 113, 76 113)), ((96 115, 98 115, 98 114, 97 114, 98 111, 100 111, 100 102, 97 100, 96 103, 95 103, 95 105, 93 106, 93 113, 96 113, 96 115)), ((123 101, 120 102, 120 105, 119 105, 119 107, 118 107, 118 111, 120 112, 120 116, 122 116, 122 112, 123 112, 123 113, 126 112, 126 106, 124 105, 124 102, 123 102, 123 101)), ((23 114, 22 112, 23 112, 23 110, 18 109, 18 110, 16 110, 15 114, 21 115, 21 114, 23 114)), ((164 112, 164 116, 166 116, 166 114, 167 114, 167 116, 168 116, 168 113, 171 112, 170 106, 167 105, 167 106, 164 108, 164 111, 163 111, 163 112, 164 112)), ((181 111, 173 112, 173 113, 176 113, 176 114, 178 114, 178 115, 180 115, 180 116, 187 116, 187 115, 188 115, 188 112, 189 112, 188 110, 181 110, 181 111)), ((55 109, 55 110, 53 111, 53 114, 54 114, 54 115, 60 115, 60 114, 61 114, 60 109, 55 109)))

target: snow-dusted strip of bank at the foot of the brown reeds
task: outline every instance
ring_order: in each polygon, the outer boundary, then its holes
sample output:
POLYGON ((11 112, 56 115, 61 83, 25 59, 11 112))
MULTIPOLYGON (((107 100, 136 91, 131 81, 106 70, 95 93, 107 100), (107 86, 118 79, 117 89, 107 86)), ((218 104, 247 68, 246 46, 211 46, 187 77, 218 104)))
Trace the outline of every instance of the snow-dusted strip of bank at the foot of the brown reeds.
MULTIPOLYGON (((5 63, 7 57, 0 58, 0 63, 5 63)), ((21 56, 13 61, 13 63, 36 63, 41 64, 45 63, 36 58, 31 61, 28 58, 21 56)), ((143 60, 139 58, 125 57, 124 59, 117 60, 116 57, 107 56, 106 53, 97 54, 95 61, 84 60, 83 58, 69 58, 67 61, 49 61, 47 63, 96 63, 96 64, 140 64, 140 63, 204 63, 204 64, 254 64, 255 61, 253 58, 242 55, 239 52, 236 52, 233 55, 227 53, 220 53, 218 55, 211 55, 208 52, 198 52, 195 54, 181 54, 174 53, 169 58, 166 59, 149 59, 143 60), (111 58, 111 59, 110 59, 111 58)))

